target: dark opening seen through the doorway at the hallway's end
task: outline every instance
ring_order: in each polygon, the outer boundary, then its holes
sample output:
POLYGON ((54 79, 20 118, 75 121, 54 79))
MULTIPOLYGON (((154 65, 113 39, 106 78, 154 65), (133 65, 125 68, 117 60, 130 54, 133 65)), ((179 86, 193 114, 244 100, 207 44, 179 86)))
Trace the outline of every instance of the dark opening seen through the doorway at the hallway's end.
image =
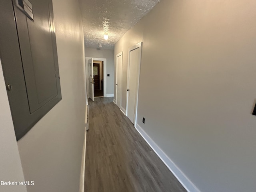
POLYGON ((93 61, 94 97, 104 97, 103 61, 93 61))

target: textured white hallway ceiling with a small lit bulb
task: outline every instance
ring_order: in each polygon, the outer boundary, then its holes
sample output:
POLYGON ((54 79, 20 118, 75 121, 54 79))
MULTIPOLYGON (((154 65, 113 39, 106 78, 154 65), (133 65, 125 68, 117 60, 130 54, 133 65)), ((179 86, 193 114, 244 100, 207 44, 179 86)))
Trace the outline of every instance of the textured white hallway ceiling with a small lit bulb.
POLYGON ((114 44, 160 0, 80 0, 85 46, 114 44), (108 40, 103 38, 108 34, 108 40))

